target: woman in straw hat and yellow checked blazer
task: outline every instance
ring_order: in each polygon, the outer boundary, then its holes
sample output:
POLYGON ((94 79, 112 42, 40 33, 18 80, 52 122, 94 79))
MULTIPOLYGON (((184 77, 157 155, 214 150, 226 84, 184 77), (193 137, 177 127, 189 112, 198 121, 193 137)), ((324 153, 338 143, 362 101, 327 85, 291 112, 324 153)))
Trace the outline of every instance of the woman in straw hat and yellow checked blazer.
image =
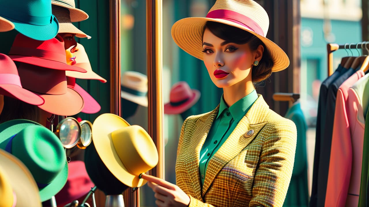
POLYGON ((206 18, 173 25, 177 45, 204 61, 223 97, 213 111, 184 121, 177 185, 142 175, 152 182, 158 206, 283 205, 297 134, 253 85, 289 65, 283 50, 265 38, 268 27, 268 14, 251 0, 217 0, 206 18))

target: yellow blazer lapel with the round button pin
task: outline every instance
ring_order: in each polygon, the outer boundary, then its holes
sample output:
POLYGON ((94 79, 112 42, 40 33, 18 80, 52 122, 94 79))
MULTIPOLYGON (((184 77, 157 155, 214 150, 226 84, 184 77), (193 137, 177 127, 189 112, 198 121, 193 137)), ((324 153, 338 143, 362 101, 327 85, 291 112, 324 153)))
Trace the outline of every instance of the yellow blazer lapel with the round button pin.
MULTIPOLYGON (((269 109, 269 106, 266 104, 262 96, 259 95, 259 98, 256 99, 255 103, 251 106, 246 115, 239 121, 236 128, 232 131, 224 144, 210 159, 206 169, 202 196, 205 196, 205 193, 213 182, 215 176, 217 176, 224 165, 244 150, 244 148, 254 140, 259 131, 265 126, 267 122, 264 121, 264 119, 268 111, 267 109, 269 109)), ((199 164, 197 164, 197 168, 198 167, 199 164)), ((199 181, 198 174, 199 173, 197 172, 197 180, 199 181)))

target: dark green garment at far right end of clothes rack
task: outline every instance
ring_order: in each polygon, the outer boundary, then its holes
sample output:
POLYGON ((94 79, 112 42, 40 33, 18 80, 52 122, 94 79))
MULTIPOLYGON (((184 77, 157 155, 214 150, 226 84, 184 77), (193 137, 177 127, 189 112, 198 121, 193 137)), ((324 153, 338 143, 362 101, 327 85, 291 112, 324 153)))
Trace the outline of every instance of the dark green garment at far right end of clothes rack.
POLYGON ((361 182, 360 182, 360 195, 359 195, 359 207, 366 207, 369 204, 369 110, 366 113, 365 130, 364 130, 364 143, 363 143, 363 161, 361 166, 361 182))

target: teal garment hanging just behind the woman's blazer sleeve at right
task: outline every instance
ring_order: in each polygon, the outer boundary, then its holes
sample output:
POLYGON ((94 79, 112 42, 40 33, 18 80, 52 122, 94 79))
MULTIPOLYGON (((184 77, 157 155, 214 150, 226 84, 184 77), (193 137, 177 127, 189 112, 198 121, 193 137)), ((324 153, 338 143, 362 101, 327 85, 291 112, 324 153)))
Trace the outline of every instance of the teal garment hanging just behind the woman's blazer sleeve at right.
POLYGON ((284 116, 292 120, 297 127, 297 144, 292 178, 288 187, 284 207, 307 207, 309 203, 309 191, 307 182, 307 150, 306 130, 307 124, 300 103, 291 106, 284 116))

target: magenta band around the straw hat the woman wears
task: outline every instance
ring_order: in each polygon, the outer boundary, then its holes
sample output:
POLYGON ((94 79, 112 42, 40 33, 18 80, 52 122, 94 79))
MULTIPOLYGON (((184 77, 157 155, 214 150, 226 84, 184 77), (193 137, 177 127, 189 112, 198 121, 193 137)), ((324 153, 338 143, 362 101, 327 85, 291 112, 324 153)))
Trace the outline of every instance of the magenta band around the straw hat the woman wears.
POLYGON ((256 23, 254 20, 252 20, 249 17, 246 17, 243 14, 240 14, 235 11, 226 10, 226 9, 218 9, 214 11, 210 11, 207 15, 207 18, 213 18, 213 19, 222 19, 222 20, 228 20, 237 24, 240 24, 246 28, 249 28, 251 31, 254 31, 258 33, 259 35, 264 36, 264 32, 260 25, 256 23))

